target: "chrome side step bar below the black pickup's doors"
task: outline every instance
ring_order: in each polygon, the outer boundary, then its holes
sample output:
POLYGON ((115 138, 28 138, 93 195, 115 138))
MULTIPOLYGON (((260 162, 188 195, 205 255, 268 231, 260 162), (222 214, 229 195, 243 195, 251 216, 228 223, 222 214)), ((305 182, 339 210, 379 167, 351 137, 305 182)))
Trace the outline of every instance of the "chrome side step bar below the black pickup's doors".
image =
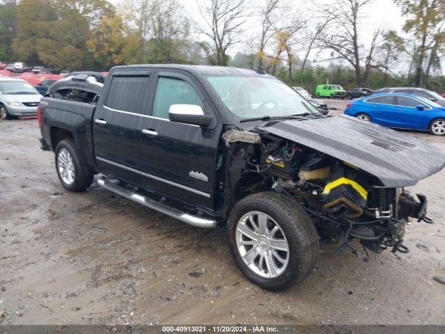
POLYGON ((97 184, 106 190, 113 191, 113 193, 116 193, 119 196, 128 198, 129 200, 133 200, 134 202, 145 205, 150 209, 154 209, 172 218, 176 218, 177 220, 182 221, 184 223, 188 223, 198 228, 216 227, 216 220, 214 219, 201 218, 198 216, 193 216, 193 214, 186 214, 185 212, 182 212, 179 209, 175 209, 173 207, 165 205, 162 202, 158 202, 156 200, 153 200, 152 198, 140 195, 136 192, 122 188, 122 186, 118 186, 117 184, 108 182, 104 177, 100 177, 97 180, 97 184))

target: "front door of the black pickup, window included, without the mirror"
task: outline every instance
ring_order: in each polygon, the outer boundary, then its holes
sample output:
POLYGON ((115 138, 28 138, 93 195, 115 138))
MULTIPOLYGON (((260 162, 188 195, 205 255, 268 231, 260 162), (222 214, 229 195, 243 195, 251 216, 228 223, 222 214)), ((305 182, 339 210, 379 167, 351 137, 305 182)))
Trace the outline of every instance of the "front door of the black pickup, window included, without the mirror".
POLYGON ((222 122, 200 82, 186 71, 159 70, 149 104, 151 117, 141 123, 140 168, 143 183, 167 196, 213 210, 217 146, 222 122), (199 105, 215 116, 202 128, 168 119, 172 104, 199 105))

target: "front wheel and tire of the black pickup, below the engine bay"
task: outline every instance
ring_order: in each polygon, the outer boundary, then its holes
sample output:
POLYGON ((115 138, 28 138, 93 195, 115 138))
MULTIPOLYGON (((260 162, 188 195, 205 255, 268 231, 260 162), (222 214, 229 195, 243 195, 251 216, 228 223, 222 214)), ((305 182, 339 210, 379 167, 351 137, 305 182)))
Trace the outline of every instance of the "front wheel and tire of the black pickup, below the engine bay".
POLYGON ((270 291, 300 283, 314 270, 318 234, 298 203, 275 192, 250 195, 229 215, 230 250, 253 283, 270 291))

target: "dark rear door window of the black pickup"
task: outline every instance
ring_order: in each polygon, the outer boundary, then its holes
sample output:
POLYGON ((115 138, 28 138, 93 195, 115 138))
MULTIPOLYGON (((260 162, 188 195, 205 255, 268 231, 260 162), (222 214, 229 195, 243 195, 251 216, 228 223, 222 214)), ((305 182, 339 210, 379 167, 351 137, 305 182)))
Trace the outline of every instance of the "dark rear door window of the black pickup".
POLYGON ((115 76, 108 88, 105 106, 119 111, 145 113, 148 85, 148 75, 115 76))

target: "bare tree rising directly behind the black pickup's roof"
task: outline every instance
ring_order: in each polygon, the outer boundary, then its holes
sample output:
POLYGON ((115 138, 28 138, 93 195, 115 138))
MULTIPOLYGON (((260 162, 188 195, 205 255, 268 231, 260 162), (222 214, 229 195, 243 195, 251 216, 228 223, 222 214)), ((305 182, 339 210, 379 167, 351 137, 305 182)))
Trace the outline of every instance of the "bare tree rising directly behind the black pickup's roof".
POLYGON ((204 24, 197 25, 198 33, 207 35, 215 46, 216 55, 212 63, 226 66, 229 62, 228 49, 239 42, 241 26, 249 14, 248 0, 211 0, 207 6, 197 1, 204 24))

